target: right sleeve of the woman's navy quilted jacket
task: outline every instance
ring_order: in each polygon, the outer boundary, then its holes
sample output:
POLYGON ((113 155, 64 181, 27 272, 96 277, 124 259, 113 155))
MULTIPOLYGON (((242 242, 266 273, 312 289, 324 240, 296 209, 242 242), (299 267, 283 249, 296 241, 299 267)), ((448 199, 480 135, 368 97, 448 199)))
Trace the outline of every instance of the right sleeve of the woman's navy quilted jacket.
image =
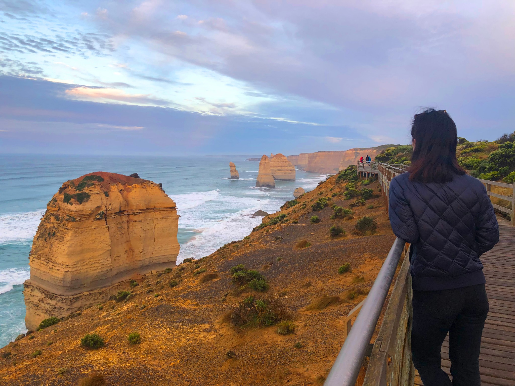
POLYGON ((483 184, 483 191, 479 196, 479 216, 476 219, 476 252, 480 256, 490 251, 499 242, 499 224, 493 211, 492 203, 486 194, 483 184))

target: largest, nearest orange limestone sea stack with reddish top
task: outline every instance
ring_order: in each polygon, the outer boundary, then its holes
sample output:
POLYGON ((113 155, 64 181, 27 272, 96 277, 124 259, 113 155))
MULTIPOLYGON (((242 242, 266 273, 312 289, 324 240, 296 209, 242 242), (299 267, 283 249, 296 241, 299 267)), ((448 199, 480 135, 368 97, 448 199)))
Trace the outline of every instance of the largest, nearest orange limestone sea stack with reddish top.
POLYGON ((94 172, 65 182, 32 243, 27 328, 105 302, 124 280, 174 266, 178 221, 175 202, 152 181, 94 172))

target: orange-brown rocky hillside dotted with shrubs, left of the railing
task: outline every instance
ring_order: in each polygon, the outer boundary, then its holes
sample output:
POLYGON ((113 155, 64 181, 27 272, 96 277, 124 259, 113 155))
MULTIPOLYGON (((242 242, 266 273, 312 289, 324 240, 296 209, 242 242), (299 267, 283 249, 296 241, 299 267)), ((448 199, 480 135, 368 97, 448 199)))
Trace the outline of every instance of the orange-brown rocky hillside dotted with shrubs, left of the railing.
POLYGON ((394 240, 377 184, 348 178, 288 201, 243 240, 47 321, 1 350, 0 383, 321 384, 394 240))

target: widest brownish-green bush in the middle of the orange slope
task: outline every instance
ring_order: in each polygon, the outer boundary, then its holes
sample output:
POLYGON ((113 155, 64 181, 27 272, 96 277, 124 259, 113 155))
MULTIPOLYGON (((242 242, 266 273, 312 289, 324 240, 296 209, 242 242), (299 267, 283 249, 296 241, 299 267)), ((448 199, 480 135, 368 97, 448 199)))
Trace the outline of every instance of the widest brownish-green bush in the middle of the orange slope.
POLYGON ((267 327, 290 319, 279 299, 271 296, 248 296, 229 314, 236 327, 267 327))

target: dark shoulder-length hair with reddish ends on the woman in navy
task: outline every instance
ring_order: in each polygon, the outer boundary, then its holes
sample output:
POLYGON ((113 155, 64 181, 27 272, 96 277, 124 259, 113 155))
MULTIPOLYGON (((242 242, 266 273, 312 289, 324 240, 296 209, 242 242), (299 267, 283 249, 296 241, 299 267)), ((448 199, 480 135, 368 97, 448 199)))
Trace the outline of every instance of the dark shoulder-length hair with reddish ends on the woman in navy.
POLYGON ((409 168, 411 181, 448 182, 465 170, 456 161, 456 124, 445 110, 427 109, 416 114, 411 124, 415 149, 409 168))

